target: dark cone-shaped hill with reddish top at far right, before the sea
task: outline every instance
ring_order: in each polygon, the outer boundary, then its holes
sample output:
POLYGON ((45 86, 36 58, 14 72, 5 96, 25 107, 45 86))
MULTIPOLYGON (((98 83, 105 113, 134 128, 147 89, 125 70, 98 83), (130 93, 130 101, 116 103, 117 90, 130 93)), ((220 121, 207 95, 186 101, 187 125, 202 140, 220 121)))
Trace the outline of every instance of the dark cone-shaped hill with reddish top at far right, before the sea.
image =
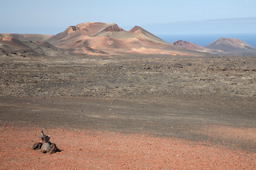
POLYGON ((214 50, 229 51, 230 54, 256 55, 256 48, 250 46, 244 41, 234 38, 220 38, 204 46, 214 50))

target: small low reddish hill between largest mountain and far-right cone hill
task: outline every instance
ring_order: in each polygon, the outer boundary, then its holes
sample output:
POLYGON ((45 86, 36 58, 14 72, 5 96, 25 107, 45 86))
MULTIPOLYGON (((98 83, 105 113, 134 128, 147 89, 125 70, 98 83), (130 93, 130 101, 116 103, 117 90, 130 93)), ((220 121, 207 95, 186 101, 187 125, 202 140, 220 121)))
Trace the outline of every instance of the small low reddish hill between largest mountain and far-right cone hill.
POLYGON ((228 52, 223 50, 213 50, 213 49, 198 46, 194 43, 190 43, 188 41, 183 41, 183 40, 174 41, 173 43, 170 43, 170 44, 176 47, 186 48, 188 50, 207 52, 209 54, 228 54, 228 52))

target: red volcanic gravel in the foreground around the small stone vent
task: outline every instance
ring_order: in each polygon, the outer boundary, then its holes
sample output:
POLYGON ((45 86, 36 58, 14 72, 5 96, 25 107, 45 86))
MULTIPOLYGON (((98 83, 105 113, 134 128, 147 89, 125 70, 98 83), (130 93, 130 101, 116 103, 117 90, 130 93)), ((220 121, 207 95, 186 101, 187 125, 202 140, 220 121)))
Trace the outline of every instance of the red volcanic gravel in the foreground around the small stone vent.
MULTIPOLYGON (((2 125, 3 126, 3 125, 2 125)), ((256 169, 256 153, 142 134, 44 129, 61 150, 31 149, 41 129, 0 128, 0 169, 256 169)))

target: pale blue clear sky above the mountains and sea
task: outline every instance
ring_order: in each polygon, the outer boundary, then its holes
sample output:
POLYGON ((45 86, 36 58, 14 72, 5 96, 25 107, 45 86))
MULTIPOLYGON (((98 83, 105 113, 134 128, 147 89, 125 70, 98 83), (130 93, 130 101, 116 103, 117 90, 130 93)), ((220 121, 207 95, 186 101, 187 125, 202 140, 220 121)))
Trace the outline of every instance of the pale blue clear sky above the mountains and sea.
POLYGON ((0 0, 0 4, 0 33, 56 35, 85 22, 115 23, 126 31, 138 25, 153 34, 207 33, 211 27, 201 28, 205 22, 222 19, 233 19, 235 24, 222 20, 214 33, 256 32, 251 28, 256 24, 256 0, 0 0), (236 21, 245 18, 247 28, 236 21))

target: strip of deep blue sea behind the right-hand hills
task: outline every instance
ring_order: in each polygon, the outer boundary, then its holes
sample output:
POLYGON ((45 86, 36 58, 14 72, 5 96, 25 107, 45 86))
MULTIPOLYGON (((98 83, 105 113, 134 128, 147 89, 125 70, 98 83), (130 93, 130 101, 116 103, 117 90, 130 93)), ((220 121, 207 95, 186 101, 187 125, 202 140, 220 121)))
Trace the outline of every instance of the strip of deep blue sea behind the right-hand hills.
POLYGON ((167 43, 177 40, 189 41, 199 46, 206 46, 211 42, 221 38, 235 38, 256 48, 256 33, 222 33, 222 34, 173 34, 173 35, 156 35, 167 43))

